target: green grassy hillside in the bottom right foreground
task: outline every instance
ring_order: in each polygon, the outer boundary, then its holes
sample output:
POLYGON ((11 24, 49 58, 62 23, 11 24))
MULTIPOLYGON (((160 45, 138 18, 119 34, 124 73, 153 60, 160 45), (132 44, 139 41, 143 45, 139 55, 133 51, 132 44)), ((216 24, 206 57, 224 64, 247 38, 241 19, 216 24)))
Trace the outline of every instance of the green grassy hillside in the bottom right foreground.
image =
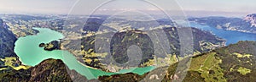
MULTIPOLYGON (((255 49, 255 41, 239 41, 236 44, 192 57, 189 70, 184 79, 179 79, 179 77, 181 77, 180 74, 174 74, 177 68, 177 63, 172 64, 169 67, 154 69, 152 72, 144 74, 143 76, 137 76, 137 74, 119 74, 115 76, 100 77, 100 79, 102 81, 119 81, 117 78, 126 77, 122 80, 144 80, 153 82, 154 80, 157 80, 155 77, 160 78, 160 74, 164 73, 164 78, 158 79, 157 81, 242 82, 245 80, 256 80, 253 77, 256 75, 256 65, 254 64, 256 61, 255 49), (164 69, 167 69, 167 71, 160 71, 164 69), (127 78, 128 76, 131 78, 127 78)), ((181 62, 184 61, 185 59, 181 62)))

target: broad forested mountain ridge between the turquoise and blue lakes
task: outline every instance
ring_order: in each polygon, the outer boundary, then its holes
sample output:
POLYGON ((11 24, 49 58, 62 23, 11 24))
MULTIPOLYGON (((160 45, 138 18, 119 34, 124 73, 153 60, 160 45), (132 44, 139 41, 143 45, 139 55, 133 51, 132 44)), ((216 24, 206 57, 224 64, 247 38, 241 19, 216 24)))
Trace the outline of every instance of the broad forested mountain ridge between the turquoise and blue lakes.
MULTIPOLYGON (((168 57, 169 56, 168 54, 171 54, 169 57, 173 57, 173 56, 184 57, 183 55, 179 54, 180 45, 179 45, 179 37, 178 37, 177 29, 187 30, 189 29, 189 27, 188 28, 166 27, 163 29, 163 32, 161 32, 166 34, 166 38, 168 40, 162 40, 162 39, 160 40, 169 41, 170 44, 166 46, 171 47, 170 50, 168 50, 170 52, 167 52, 167 56, 166 56, 166 53, 158 55, 158 57, 160 57, 159 58, 160 61, 162 62, 166 61, 165 57, 168 57)), ((191 28, 191 31, 192 31, 193 37, 195 37, 193 41, 194 42, 193 46, 195 50, 194 52, 198 52, 198 53, 208 52, 216 47, 224 46, 225 41, 221 38, 218 38, 217 36, 212 35, 210 32, 198 30, 196 28, 191 28)), ((102 43, 110 42, 111 44, 110 52, 112 53, 106 53, 106 52, 96 53, 96 49, 95 49, 96 36, 86 36, 81 40, 71 41, 69 45, 65 47, 69 47, 72 49, 76 49, 77 51, 81 51, 80 53, 82 54, 79 55, 81 56, 79 57, 79 61, 81 63, 84 63, 94 68, 107 67, 107 68, 102 68, 102 70, 107 69, 107 71, 109 71, 108 69, 112 69, 112 68, 108 68, 109 66, 101 66, 101 65, 109 63, 108 60, 111 55, 113 56, 114 59, 118 60, 117 61, 118 63, 126 63, 128 61, 128 58, 127 58, 128 56, 126 55, 127 54, 126 50, 128 49, 128 46, 136 45, 142 49, 142 53, 143 53, 142 61, 139 64, 139 66, 144 67, 149 64, 152 65, 152 61, 153 61, 152 59, 154 58, 154 51, 157 51, 157 50, 154 50, 153 47, 154 45, 160 45, 160 44, 153 45, 153 42, 151 40, 152 37, 148 36, 148 35, 155 35, 154 33, 160 33, 160 30, 148 30, 148 31, 127 30, 127 31, 116 32, 115 34, 112 33, 113 38, 111 40, 104 38, 104 40, 98 44, 98 45, 102 45, 102 43), (81 46, 81 48, 79 48, 78 46, 81 46), (119 48, 119 47, 122 47, 122 48, 119 48), (103 62, 99 60, 103 60, 103 62)), ((102 34, 102 38, 109 35, 111 35, 111 33, 102 34)), ((97 36, 101 36, 101 35, 97 35, 97 36)), ((97 37, 97 38, 101 38, 101 37, 97 37)), ((97 47, 97 48, 102 49, 101 47, 97 47)), ((76 51, 76 50, 73 50, 73 51, 76 51)), ((119 70, 119 69, 122 69, 122 68, 117 68, 115 70, 119 70)))

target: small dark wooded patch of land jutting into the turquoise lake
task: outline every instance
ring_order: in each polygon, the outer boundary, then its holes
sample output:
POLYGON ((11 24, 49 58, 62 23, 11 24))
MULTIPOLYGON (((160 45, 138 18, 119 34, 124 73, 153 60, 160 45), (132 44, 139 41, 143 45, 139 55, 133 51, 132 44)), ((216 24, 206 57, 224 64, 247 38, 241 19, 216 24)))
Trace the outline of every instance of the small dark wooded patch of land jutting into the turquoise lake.
POLYGON ((53 51, 53 50, 61 50, 61 42, 60 41, 51 41, 47 44, 41 43, 39 47, 44 47, 45 51, 53 51))

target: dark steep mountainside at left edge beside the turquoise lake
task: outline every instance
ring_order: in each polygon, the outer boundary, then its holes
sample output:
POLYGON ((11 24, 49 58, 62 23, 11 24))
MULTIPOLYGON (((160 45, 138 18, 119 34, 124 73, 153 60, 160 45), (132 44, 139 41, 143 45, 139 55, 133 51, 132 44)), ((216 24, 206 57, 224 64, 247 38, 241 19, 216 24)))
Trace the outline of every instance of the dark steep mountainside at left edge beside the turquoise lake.
POLYGON ((14 52, 17 38, 0 19, 0 57, 16 57, 14 52))

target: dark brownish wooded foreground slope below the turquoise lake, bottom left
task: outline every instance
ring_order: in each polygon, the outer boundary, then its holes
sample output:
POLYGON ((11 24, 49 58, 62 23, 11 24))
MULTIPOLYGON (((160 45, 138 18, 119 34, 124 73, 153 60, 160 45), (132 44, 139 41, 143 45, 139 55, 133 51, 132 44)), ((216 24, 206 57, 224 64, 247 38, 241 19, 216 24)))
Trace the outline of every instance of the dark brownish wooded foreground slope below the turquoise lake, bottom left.
MULTIPOLYGON (((91 81, 96 79, 91 79, 91 81)), ((35 67, 15 70, 12 68, 0 71, 2 82, 81 82, 89 81, 83 75, 66 68, 59 59, 47 59, 35 67)))

